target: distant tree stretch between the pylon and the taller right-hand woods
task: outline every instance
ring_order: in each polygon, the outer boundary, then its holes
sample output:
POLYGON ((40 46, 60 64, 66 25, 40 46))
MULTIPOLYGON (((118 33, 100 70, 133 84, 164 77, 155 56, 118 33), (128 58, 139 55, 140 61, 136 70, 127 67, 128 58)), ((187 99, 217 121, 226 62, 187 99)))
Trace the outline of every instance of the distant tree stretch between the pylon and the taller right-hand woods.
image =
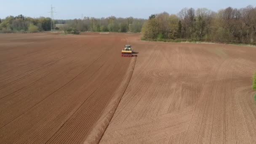
POLYGON ((136 19, 133 17, 107 18, 84 17, 83 19, 57 21, 57 27, 64 30, 78 30, 81 32, 141 32, 141 28, 146 19, 136 19))

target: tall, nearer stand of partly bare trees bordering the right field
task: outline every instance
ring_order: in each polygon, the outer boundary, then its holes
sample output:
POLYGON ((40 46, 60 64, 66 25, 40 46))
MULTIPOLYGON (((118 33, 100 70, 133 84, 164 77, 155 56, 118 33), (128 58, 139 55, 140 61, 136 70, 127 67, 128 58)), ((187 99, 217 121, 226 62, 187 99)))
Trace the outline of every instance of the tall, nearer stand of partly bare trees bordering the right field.
POLYGON ((256 44, 256 8, 183 8, 177 14, 166 12, 149 16, 142 27, 143 39, 191 40, 256 44))

